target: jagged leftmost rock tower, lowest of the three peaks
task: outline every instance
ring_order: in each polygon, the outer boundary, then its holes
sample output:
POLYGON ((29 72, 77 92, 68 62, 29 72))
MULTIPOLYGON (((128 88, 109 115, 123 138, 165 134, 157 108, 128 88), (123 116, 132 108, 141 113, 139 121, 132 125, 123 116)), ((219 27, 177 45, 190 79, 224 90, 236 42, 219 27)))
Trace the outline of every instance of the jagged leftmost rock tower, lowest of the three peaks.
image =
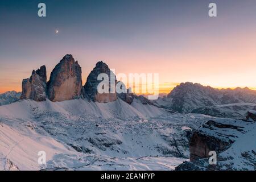
POLYGON ((20 99, 46 101, 46 66, 33 70, 30 78, 23 79, 20 99))

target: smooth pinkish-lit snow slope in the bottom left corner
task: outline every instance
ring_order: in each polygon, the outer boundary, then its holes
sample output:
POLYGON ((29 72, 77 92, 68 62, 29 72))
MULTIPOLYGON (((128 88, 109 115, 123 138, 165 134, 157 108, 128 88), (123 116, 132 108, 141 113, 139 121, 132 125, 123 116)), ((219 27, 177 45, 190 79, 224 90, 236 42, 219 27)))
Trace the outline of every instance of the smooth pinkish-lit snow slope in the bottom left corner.
POLYGON ((37 134, 33 125, 17 125, 19 128, 15 129, 0 123, 0 170, 38 170, 39 151, 45 151, 48 159, 68 152, 51 137, 37 134))

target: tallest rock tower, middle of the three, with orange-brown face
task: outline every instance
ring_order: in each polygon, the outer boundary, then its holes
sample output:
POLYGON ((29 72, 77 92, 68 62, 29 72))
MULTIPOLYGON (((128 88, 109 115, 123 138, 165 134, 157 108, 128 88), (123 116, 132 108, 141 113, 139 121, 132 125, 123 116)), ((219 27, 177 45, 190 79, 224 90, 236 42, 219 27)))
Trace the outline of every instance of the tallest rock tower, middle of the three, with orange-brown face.
POLYGON ((79 98, 82 89, 81 74, 81 67, 73 56, 64 56, 53 69, 47 83, 49 100, 56 102, 79 98))

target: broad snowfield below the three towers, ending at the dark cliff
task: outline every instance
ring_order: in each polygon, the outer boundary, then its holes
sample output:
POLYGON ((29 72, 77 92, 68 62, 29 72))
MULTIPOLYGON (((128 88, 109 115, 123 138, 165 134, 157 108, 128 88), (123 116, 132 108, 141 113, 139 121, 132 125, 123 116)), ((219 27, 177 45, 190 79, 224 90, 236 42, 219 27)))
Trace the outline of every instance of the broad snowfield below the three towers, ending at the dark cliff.
POLYGON ((139 101, 18 101, 0 106, 0 168, 174 169, 189 158, 185 130, 209 118, 139 101))

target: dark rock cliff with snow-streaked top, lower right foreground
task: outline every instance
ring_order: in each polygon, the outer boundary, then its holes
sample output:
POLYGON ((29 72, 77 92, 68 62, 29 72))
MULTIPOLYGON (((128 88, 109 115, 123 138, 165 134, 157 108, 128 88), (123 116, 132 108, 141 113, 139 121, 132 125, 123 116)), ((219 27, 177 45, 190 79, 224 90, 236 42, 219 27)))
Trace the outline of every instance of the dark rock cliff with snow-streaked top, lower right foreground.
POLYGON ((233 119, 214 119, 203 124, 193 132, 190 143, 190 160, 208 158, 210 151, 220 153, 236 140, 243 132, 245 122, 233 119))

